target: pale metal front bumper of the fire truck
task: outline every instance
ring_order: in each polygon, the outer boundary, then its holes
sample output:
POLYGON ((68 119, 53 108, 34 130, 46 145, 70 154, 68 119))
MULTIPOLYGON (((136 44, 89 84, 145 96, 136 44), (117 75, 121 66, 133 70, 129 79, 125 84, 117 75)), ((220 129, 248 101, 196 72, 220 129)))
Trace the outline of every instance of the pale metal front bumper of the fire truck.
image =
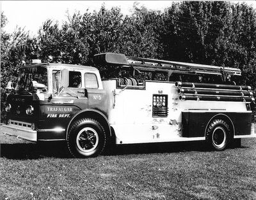
POLYGON ((37 132, 33 131, 31 129, 31 124, 27 122, 11 120, 10 124, 3 125, 1 132, 29 141, 37 141, 37 132))

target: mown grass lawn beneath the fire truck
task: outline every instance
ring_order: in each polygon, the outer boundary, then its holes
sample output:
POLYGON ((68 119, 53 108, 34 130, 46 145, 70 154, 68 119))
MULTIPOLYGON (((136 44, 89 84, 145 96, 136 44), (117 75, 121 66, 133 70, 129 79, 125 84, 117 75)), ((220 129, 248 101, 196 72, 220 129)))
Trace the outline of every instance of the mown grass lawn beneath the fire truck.
POLYGON ((57 143, 0 143, 0 199, 256 199, 256 138, 223 152, 125 145, 92 159, 69 159, 57 143))

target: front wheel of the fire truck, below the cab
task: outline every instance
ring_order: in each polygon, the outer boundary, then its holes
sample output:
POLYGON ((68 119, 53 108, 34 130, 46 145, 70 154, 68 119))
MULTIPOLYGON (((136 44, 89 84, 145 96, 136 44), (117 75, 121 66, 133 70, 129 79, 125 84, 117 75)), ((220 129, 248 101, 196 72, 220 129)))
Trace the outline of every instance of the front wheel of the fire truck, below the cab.
POLYGON ((73 157, 96 157, 105 145, 106 133, 98 121, 81 118, 70 125, 67 146, 73 157))

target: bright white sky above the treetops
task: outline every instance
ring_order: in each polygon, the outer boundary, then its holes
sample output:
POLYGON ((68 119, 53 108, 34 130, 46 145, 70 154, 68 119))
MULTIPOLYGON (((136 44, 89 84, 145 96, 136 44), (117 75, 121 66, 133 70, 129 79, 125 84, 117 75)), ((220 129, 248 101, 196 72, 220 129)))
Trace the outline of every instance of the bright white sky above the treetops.
MULTIPOLYGON (((120 7, 124 15, 131 13, 132 5, 135 1, 1 1, 1 11, 8 19, 8 24, 4 27, 7 32, 13 32, 15 27, 25 27, 26 31, 36 34, 39 27, 47 20, 58 20, 60 23, 67 19, 66 11, 70 14, 75 11, 84 13, 89 11, 99 11, 100 6, 105 3, 106 8, 120 7)), ((161 10, 170 7, 173 1, 136 1, 141 6, 150 10, 161 10)), ((235 1, 234 1, 235 2, 235 1)), ((242 2, 242 1, 236 1, 242 2)), ((246 1, 256 8, 256 1, 246 1)))

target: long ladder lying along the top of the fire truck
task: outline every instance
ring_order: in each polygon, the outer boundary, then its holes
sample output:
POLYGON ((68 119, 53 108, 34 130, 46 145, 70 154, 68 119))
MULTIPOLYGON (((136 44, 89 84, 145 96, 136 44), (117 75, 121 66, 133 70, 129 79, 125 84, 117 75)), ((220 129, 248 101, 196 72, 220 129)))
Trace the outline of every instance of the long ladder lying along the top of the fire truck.
POLYGON ((131 57, 124 54, 104 53, 94 55, 95 64, 109 64, 122 67, 132 67, 141 71, 165 71, 170 74, 209 74, 209 75, 236 75, 241 76, 241 70, 237 68, 225 68, 189 62, 163 61, 131 57))

